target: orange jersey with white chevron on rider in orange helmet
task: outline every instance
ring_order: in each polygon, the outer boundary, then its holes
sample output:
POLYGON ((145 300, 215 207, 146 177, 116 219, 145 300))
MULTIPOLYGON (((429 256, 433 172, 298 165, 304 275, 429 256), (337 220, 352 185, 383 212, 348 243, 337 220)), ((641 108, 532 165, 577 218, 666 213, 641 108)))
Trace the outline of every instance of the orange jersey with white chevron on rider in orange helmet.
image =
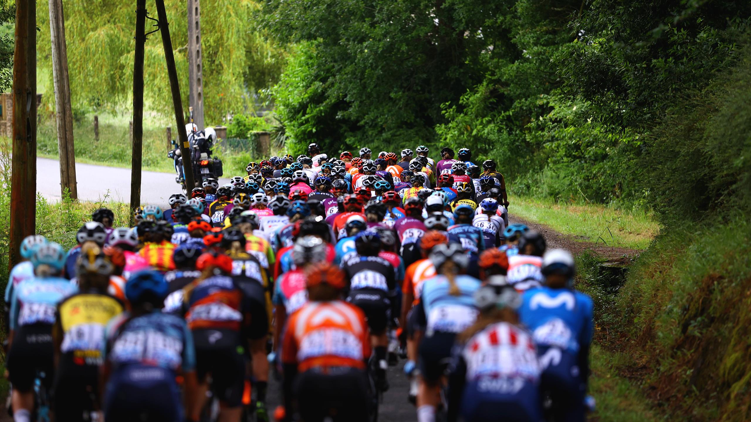
POLYGON ((333 300, 309 302, 287 321, 282 362, 297 370, 348 366, 365 369, 370 339, 365 313, 357 306, 333 300))

